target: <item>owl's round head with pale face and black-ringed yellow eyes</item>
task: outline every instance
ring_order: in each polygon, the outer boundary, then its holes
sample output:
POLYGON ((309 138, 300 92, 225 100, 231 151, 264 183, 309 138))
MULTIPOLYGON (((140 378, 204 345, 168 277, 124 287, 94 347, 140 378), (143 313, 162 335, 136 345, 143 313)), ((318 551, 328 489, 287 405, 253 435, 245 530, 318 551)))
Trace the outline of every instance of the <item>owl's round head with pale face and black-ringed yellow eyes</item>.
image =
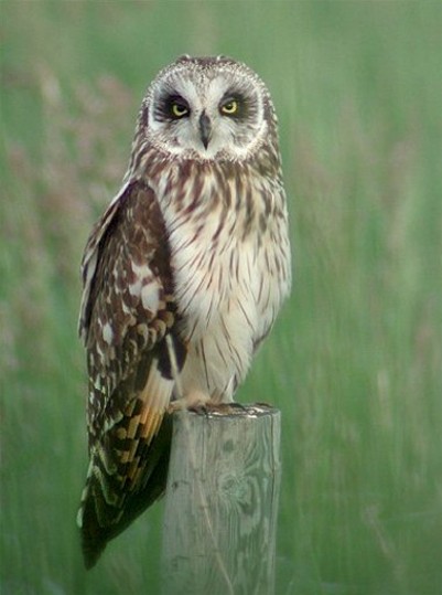
POLYGON ((270 106, 267 88, 246 65, 183 56, 153 81, 141 123, 147 140, 174 157, 238 160, 266 140, 270 106))

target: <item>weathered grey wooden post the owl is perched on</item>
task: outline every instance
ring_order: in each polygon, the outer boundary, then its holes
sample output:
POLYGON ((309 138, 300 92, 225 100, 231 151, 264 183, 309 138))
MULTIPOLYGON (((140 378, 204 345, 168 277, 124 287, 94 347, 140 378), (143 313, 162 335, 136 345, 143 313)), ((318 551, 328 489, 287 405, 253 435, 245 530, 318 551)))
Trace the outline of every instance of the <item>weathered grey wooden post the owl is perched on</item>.
POLYGON ((179 412, 163 529, 164 595, 272 595, 280 412, 179 412))

